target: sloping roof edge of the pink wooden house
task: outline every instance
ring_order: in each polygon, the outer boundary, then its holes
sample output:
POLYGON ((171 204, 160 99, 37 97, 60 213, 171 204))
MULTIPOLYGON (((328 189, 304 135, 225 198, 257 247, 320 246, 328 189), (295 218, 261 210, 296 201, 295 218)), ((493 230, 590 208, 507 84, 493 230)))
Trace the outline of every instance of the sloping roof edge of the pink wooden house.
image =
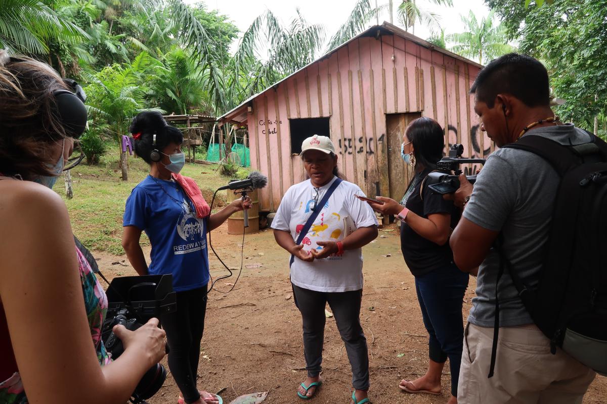
POLYGON ((314 63, 322 61, 322 59, 326 59, 326 58, 330 57, 331 55, 333 55, 333 53, 335 53, 340 48, 342 48, 342 47, 350 44, 350 42, 356 41, 356 39, 364 38, 366 36, 387 35, 388 33, 392 33, 393 35, 398 35, 398 36, 400 36, 401 38, 404 38, 404 39, 409 39, 409 41, 415 42, 416 44, 421 45, 424 48, 428 48, 430 50, 436 50, 438 52, 444 53, 444 55, 450 56, 451 58, 454 58, 454 59, 458 59, 459 61, 462 61, 464 63, 473 65, 473 66, 478 67, 478 68, 483 68, 483 65, 478 64, 475 61, 471 61, 470 59, 466 59, 463 56, 459 56, 456 53, 453 53, 452 51, 449 51, 449 50, 443 49, 441 47, 438 47, 436 45, 430 44, 430 42, 424 41, 424 39, 421 39, 421 38, 419 38, 419 37, 417 37, 417 36, 415 36, 413 34, 410 34, 409 32, 403 30, 402 28, 399 28, 399 27, 397 27, 394 24, 390 24, 390 22, 384 21, 384 24, 382 24, 382 25, 373 25, 373 27, 367 28, 367 30, 359 33, 359 35, 354 36, 354 38, 350 39, 350 41, 344 42, 343 44, 339 45, 338 47, 334 48, 333 50, 328 51, 327 53, 325 53, 325 55, 321 56, 320 58, 316 59, 315 61, 311 62, 310 64, 307 64, 304 67, 300 68, 299 70, 294 71, 293 73, 291 73, 287 77, 283 78, 282 80, 276 82, 275 84, 271 85, 270 87, 265 88, 265 90, 260 91, 259 93, 254 94, 253 96, 247 98, 238 107, 233 108, 232 110, 226 112, 225 114, 223 114, 222 116, 220 116, 219 118, 217 118, 217 121, 222 121, 222 120, 223 121, 229 121, 231 118, 234 118, 234 116, 236 115, 234 113, 238 112, 243 107, 245 107, 245 105, 248 104, 248 102, 252 101, 253 99, 255 99, 258 96, 260 96, 261 94, 263 94, 266 91, 270 90, 270 88, 276 87, 277 85, 279 85, 283 81, 287 80, 288 78, 291 78, 292 76, 296 75, 300 71, 307 69, 308 67, 310 67, 314 63), (230 119, 228 119, 229 116, 232 116, 232 117, 230 119))

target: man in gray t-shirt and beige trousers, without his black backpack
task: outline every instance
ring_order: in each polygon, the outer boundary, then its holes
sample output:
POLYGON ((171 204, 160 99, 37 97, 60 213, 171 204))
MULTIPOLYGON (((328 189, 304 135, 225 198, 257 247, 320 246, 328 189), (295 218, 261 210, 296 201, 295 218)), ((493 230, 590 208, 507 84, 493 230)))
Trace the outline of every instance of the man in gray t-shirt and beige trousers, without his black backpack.
MULTIPOLYGON (((529 56, 510 53, 493 60, 478 73, 470 93, 475 94, 481 130, 498 147, 527 134, 563 145, 591 141, 588 133, 554 116, 546 68, 529 56)), ((500 148, 489 156, 473 187, 465 176, 460 180, 456 204, 469 202, 450 245, 462 271, 480 268, 464 333, 459 404, 581 403, 594 371, 560 348, 551 354, 550 340, 534 324, 509 273, 496 285, 504 259, 527 285, 538 285, 560 181, 557 172, 534 153, 500 148), (496 296, 499 339, 495 374, 488 378, 496 296)))

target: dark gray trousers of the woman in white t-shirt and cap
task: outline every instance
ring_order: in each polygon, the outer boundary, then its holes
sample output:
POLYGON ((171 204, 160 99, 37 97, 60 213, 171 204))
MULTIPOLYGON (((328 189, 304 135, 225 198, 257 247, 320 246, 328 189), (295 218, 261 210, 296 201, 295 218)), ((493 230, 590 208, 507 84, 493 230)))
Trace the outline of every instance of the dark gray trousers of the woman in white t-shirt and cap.
POLYGON ((322 363, 322 345, 325 337, 325 305, 329 303, 337 329, 345 344, 352 369, 355 389, 369 388, 369 356, 367 339, 362 332, 362 289, 348 292, 317 292, 293 285, 295 305, 302 314, 304 328, 304 356, 309 377, 319 375, 322 363))

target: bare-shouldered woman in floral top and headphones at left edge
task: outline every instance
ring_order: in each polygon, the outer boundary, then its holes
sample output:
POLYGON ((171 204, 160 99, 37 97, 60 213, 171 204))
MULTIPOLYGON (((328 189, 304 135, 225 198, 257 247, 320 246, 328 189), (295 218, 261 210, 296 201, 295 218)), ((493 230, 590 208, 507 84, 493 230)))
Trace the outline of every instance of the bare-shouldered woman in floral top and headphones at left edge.
POLYGON ((126 349, 114 361, 101 341, 106 295, 76 248, 66 205, 50 189, 86 125, 72 90, 49 65, 0 51, 4 404, 124 404, 164 356, 158 319, 137 331, 115 326, 126 349))

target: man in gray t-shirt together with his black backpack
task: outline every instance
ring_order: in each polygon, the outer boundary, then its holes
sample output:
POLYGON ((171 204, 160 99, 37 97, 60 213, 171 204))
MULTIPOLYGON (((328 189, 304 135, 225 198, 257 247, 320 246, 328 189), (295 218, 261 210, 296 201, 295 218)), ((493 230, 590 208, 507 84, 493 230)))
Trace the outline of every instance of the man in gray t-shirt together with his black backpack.
POLYGON ((470 93, 500 149, 455 196, 453 257, 478 267, 458 403, 581 403, 593 368, 607 371, 607 145, 554 116, 548 72, 529 56, 493 60, 470 93))

